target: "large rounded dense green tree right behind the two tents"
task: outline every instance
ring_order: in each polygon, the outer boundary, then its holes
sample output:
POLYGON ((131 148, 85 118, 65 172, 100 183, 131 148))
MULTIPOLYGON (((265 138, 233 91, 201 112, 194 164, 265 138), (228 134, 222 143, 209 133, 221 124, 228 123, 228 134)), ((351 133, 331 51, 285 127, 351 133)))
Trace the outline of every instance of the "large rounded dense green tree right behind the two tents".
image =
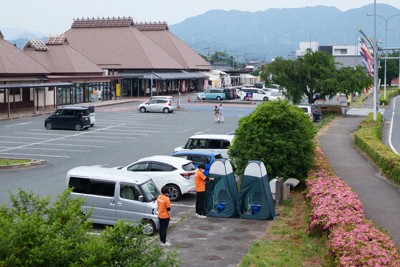
POLYGON ((315 133, 300 108, 286 101, 268 101, 239 120, 228 154, 239 174, 249 160, 260 160, 270 178, 304 181, 313 163, 315 133))

